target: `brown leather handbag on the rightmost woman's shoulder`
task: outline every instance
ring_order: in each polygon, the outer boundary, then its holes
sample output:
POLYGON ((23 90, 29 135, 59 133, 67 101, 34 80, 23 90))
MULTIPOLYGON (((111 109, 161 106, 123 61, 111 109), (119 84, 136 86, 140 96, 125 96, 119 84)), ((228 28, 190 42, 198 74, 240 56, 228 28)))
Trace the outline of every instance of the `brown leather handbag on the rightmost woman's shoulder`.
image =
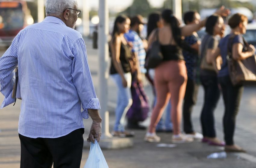
MULTIPOLYGON (((229 77, 233 85, 256 84, 256 56, 253 54, 244 60, 234 60, 232 58, 232 53, 229 49, 230 42, 235 36, 231 36, 228 41, 228 55, 227 55, 227 65, 229 70, 229 77)), ((245 44, 245 51, 249 44, 243 38, 245 44)), ((232 46, 232 45, 231 45, 232 46)))

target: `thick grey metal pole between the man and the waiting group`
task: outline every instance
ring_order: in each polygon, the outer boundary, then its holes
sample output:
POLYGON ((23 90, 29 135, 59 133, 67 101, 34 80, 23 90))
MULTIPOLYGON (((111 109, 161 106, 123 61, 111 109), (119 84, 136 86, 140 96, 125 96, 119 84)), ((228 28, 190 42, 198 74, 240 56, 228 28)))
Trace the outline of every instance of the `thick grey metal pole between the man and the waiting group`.
POLYGON ((109 133, 109 113, 107 110, 108 102, 108 0, 99 0, 99 101, 101 104, 100 115, 102 118, 101 138, 112 137, 109 133))

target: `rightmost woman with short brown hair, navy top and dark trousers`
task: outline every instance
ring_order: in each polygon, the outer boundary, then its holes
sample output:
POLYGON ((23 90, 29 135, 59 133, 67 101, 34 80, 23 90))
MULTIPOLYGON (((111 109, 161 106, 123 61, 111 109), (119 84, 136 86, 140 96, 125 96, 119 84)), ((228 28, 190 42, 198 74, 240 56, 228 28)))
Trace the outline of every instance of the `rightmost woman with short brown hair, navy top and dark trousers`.
POLYGON ((223 64, 218 73, 218 80, 222 89, 222 95, 225 105, 223 126, 224 139, 226 142, 226 152, 245 152, 244 149, 234 143, 234 133, 236 127, 236 116, 239 112, 239 105, 243 94, 243 85, 233 85, 227 65, 228 50, 232 53, 232 58, 235 60, 244 60, 255 53, 255 48, 252 45, 247 46, 244 43, 242 34, 246 32, 248 18, 240 13, 236 13, 228 20, 228 25, 231 28, 231 33, 220 40, 218 48, 211 56, 215 61, 217 56, 221 55, 223 64))

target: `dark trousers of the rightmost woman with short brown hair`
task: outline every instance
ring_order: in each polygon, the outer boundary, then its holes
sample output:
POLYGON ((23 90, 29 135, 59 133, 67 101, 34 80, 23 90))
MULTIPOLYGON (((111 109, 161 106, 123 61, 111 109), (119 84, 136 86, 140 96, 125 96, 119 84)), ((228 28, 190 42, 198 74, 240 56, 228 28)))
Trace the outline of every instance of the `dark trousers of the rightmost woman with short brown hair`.
POLYGON ((223 117, 224 139, 226 141, 226 145, 233 145, 236 116, 239 111, 239 105, 244 87, 242 85, 233 86, 229 76, 219 77, 219 82, 225 104, 225 112, 223 117))

